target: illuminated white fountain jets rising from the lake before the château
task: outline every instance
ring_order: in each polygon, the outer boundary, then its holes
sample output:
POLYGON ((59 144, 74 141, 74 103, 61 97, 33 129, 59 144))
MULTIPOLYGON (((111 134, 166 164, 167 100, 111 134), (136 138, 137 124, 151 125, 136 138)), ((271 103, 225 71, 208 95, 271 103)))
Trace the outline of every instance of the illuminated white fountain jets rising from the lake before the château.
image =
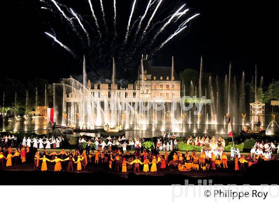
MULTIPOLYGON (((171 104, 164 105, 163 109, 160 111, 154 110, 153 108, 145 110, 143 107, 149 107, 150 101, 142 102, 141 105, 136 109, 133 107, 133 103, 128 100, 122 101, 120 99, 120 91, 112 91, 113 95, 110 97, 110 104, 106 102, 101 102, 100 96, 93 96, 90 89, 87 89, 87 74, 86 74, 86 63, 84 58, 83 63, 83 84, 78 82, 73 78, 64 79, 60 84, 53 84, 53 107, 54 107, 54 121, 61 125, 78 125, 82 126, 86 124, 91 127, 101 127, 104 124, 109 124, 111 127, 115 125, 124 124, 125 129, 147 129, 147 125, 152 125, 152 131, 155 131, 156 124, 160 124, 160 131, 167 131, 166 124, 169 125, 168 131, 172 132, 187 132, 186 124, 189 125, 189 129, 193 124, 193 133, 197 133, 200 124, 205 124, 204 133, 207 133, 208 125, 215 125, 216 133, 224 134, 226 133, 226 113, 231 113, 232 115, 232 124, 236 123, 236 118, 239 120, 238 124, 242 126, 245 125, 244 119, 241 119, 240 114, 245 110, 245 74, 243 72, 240 89, 239 89, 239 106, 237 104, 237 86, 236 79, 234 78, 233 84, 233 94, 231 94, 231 64, 229 67, 229 76, 225 76, 224 84, 224 98, 228 99, 227 101, 220 102, 219 97, 219 82, 218 76, 216 77, 216 91, 212 87, 212 78, 209 77, 208 81, 208 90, 205 88, 204 92, 202 89, 202 72, 203 72, 203 60, 201 58, 200 64, 200 76, 199 76, 199 98, 205 95, 207 99, 207 92, 209 93, 210 104, 204 105, 203 109, 199 112, 198 115, 194 115, 191 110, 185 111, 180 109, 180 111, 174 110, 174 105, 171 104), (62 90, 62 94, 61 94, 62 90), (60 91, 60 94, 57 93, 60 91), (76 96, 74 102, 67 102, 66 96, 67 93, 76 96), (56 96, 57 95, 57 96, 56 96), (62 95, 62 99, 61 99, 62 95), (61 102, 62 100, 62 102, 61 102), (209 106, 209 110, 207 108, 209 106), (119 107, 124 107, 119 110, 119 107), (224 108, 227 107, 227 108, 224 108), (227 111, 224 111, 227 109, 227 111), (130 112, 130 114, 128 114, 130 112), (219 113, 220 112, 220 113, 219 113), (188 113, 188 115, 187 115, 188 113), (202 116, 203 115, 203 116, 202 116), (209 118, 210 115, 210 118, 209 118), (224 116, 224 129, 218 132, 218 124, 221 124, 218 120, 219 115, 224 116), (236 117, 238 115, 239 117, 236 117), (191 119, 191 116, 193 119, 191 119), (61 119, 62 118, 62 119, 61 119), (193 121, 192 121, 193 120, 193 121)), ((174 60, 172 58, 172 69, 171 69, 171 86, 174 73, 174 60)), ((255 90, 257 90, 257 77, 255 77, 255 90)), ((112 84, 116 82, 116 67, 113 59, 113 76, 112 84)), ((261 78, 260 87, 263 83, 263 77, 261 78)), ((144 70, 141 61, 141 87, 145 87, 144 81, 144 70)), ((205 86, 206 87, 206 86, 205 86)), ((185 96, 185 85, 183 86, 183 95, 185 96)), ((128 90, 126 92, 128 94, 128 90)), ((141 95, 140 95, 141 96, 141 95)), ((194 88, 193 83, 190 83, 190 96, 197 96, 197 87, 194 88)), ((45 100, 44 105, 47 106, 47 87, 45 86, 45 100)), ((255 92, 255 101, 257 99, 257 91, 255 92)), ((35 109, 38 106, 38 90, 36 88, 36 102, 35 109)), ((16 94, 14 103, 16 105, 16 94)), ((195 106, 194 106, 195 107, 195 106)), ((26 103, 25 103, 26 112, 24 115, 25 118, 25 130, 27 130, 28 123, 28 91, 26 91, 26 103)), ((195 111, 195 110, 194 110, 195 111)), ((16 112, 15 112, 16 115, 16 112)), ((252 117, 253 118, 253 117, 252 117)), ((38 129, 38 117, 35 117, 35 130, 38 129)), ((44 128, 46 128, 47 118, 44 118, 44 128)), ((251 123, 254 121, 252 119, 251 123)), ((271 133, 269 128, 274 124, 277 124, 275 120, 271 121, 267 127, 267 133, 271 133)), ((262 125, 263 121, 262 121, 262 125)), ((240 125, 239 125, 240 126, 240 125)), ((278 126, 279 127, 279 126, 278 126)), ((16 131, 16 122, 14 123, 14 130, 16 131)))

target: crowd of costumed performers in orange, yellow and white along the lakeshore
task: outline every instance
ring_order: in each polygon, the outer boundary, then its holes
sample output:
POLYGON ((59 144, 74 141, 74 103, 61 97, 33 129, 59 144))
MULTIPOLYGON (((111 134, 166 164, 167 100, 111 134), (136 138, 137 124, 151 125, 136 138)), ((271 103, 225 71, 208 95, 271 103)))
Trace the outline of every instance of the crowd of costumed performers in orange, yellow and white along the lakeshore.
MULTIPOLYGON (((234 163, 235 171, 244 172, 246 166, 251 166, 261 161, 278 160, 275 155, 268 155, 266 152, 275 152, 278 149, 274 143, 257 142, 251 150, 251 154, 241 155, 240 151, 233 147, 230 154, 226 154, 224 150, 225 141, 219 137, 189 137, 187 143, 200 145, 202 141, 201 152, 191 151, 184 152, 177 150, 177 140, 172 137, 163 137, 156 140, 155 148, 147 150, 144 148, 144 138, 139 136, 128 139, 123 137, 96 137, 86 139, 80 137, 78 147, 72 151, 62 149, 59 153, 54 149, 47 150, 47 145, 51 141, 60 141, 62 138, 45 138, 46 146, 40 148, 31 146, 35 139, 23 138, 23 141, 15 149, 11 146, 5 146, 0 149, 0 168, 11 167, 19 163, 31 162, 34 170, 47 171, 48 163, 55 163, 54 171, 61 171, 62 167, 66 171, 82 171, 88 165, 103 164, 108 169, 127 172, 128 169, 133 169, 137 172, 156 172, 166 168, 175 168, 180 172, 195 170, 216 170, 216 167, 224 169, 228 168, 228 160, 234 163), (48 142, 47 142, 48 141, 48 142), (197 142, 197 143, 195 143, 197 142), (29 146, 30 145, 30 146, 29 146), (165 145, 165 146, 164 146, 165 145), (168 147, 169 146, 169 147, 168 147), (169 149, 168 149, 169 148, 169 149), (30 151, 32 150, 32 151, 30 151), (169 152, 170 151, 170 152, 169 152), (228 159, 229 157, 229 159, 228 159), (21 160, 21 161, 20 161, 21 160), (143 168, 140 168, 143 165, 143 168), (140 170, 142 169, 142 170, 140 170)), ((56 148, 57 144, 56 142, 56 148)))

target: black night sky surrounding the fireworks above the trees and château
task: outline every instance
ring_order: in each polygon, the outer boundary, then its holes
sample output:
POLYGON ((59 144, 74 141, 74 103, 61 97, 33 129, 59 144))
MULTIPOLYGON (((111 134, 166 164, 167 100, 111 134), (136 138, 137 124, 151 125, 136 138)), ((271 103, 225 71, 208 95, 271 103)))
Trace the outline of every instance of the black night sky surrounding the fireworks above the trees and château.
MULTIPOLYGON (((57 1, 62 3, 63 0, 57 1)), ((154 55, 150 59, 150 64, 170 66, 173 55, 177 73, 185 68, 199 70, 200 56, 202 55, 204 71, 214 75, 227 73, 229 62, 232 61, 233 75, 241 75, 242 70, 244 70, 247 81, 251 81, 255 63, 258 64, 259 75, 264 75, 265 83, 271 82, 272 79, 279 79, 279 76, 274 74, 275 70, 278 70, 278 56, 276 55, 278 32, 276 27, 279 19, 275 1, 173 0, 172 2, 174 1, 176 4, 173 3, 173 5, 162 4, 161 10, 165 8, 173 11, 171 6, 177 8, 178 5, 185 2, 191 8, 192 13, 199 12, 201 15, 190 23, 188 30, 174 37, 154 55)), ((66 1, 64 0, 64 2, 66 1)), ((124 34, 132 3, 133 0, 125 0, 125 6, 117 7, 119 16, 121 16, 118 28, 124 30, 121 31, 124 34)), ((137 15, 143 14, 146 4, 146 0, 138 0, 138 6, 135 10, 137 15)), ((79 13, 91 14, 87 0, 76 0, 72 6, 79 13)), ((105 9, 112 6, 112 0, 104 0, 104 6, 105 9)), ((51 32, 50 27, 55 20, 58 22, 53 27, 60 26, 60 18, 52 19, 52 22, 49 23, 48 16, 42 13, 45 11, 40 9, 39 0, 1 1, 1 10, 2 77, 3 75, 10 78, 40 77, 49 81, 57 81, 70 75, 82 73, 82 61, 74 59, 44 34, 45 31, 51 32), (3 65, 3 62, 6 65, 3 65)), ((109 17, 111 15, 113 14, 108 13, 109 17)), ((101 20, 101 16, 99 18, 101 20)), ((136 17, 133 18, 132 22, 134 20, 136 17)), ((111 26, 111 22, 108 20, 108 26, 111 26)), ((167 32, 171 34, 173 31, 174 29, 169 29, 167 32)), ((58 38, 67 42, 69 47, 77 51, 82 58, 83 50, 80 47, 73 47, 77 43, 72 34, 68 35, 67 32, 59 31, 56 34, 60 34, 58 38)), ((165 39, 166 36, 164 35, 162 39, 165 39)), ((104 73, 110 72, 107 71, 110 69, 108 66, 100 69, 88 64, 89 72, 97 72, 94 69, 99 69, 99 72, 104 73)), ((123 73, 121 68, 118 70, 119 77, 127 76, 127 73, 123 73)), ((128 73, 128 75, 129 80, 137 77, 136 72, 133 72, 132 75, 128 73)))

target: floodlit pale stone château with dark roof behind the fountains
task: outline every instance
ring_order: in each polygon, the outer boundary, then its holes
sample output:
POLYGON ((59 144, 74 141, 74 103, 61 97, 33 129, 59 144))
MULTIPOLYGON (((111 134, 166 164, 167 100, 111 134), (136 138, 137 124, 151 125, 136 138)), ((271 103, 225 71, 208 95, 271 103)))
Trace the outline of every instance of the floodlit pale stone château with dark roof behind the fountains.
MULTIPOLYGON (((149 66, 147 59, 142 59, 138 79, 134 84, 128 84, 128 88, 122 88, 118 84, 93 84, 88 80, 87 89, 92 97, 100 99, 101 102, 106 98, 110 99, 112 95, 117 96, 120 100, 126 99, 127 102, 156 101, 158 97, 165 102, 171 102, 172 97, 180 97, 181 84, 172 67, 149 66)), ((80 94, 74 92, 67 94, 66 102, 81 101, 83 100, 80 94)))

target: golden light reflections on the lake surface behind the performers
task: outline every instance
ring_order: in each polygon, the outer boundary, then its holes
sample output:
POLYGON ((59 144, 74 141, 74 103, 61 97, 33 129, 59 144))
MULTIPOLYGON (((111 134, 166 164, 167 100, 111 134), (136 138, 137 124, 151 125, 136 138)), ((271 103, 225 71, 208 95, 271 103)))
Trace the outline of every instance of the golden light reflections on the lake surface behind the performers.
MULTIPOLYGON (((267 125, 265 124, 265 120, 262 123, 262 128, 266 129, 267 125)), ((176 124, 175 130, 172 131, 171 124, 145 124, 144 129, 141 126, 131 125, 134 128, 127 129, 126 136, 143 136, 143 137, 152 137, 152 136, 160 136, 162 132, 166 134, 174 133, 176 136, 188 136, 188 135, 227 135, 228 124, 206 124, 206 123, 178 123, 176 124)), ((10 131, 26 131, 26 132, 35 132, 38 134, 41 133, 49 133, 51 129, 45 128, 45 118, 36 116, 36 117, 28 117, 28 118, 21 118, 20 120, 9 120, 9 124, 5 126, 6 130, 10 131)), ((240 131, 243 128, 243 125, 239 124, 232 124, 233 131, 240 131)), ((270 130, 271 132, 277 131, 278 127, 271 125, 270 130)), ((74 133, 74 136, 78 135, 88 135, 88 136, 96 136, 95 133, 74 133)))

